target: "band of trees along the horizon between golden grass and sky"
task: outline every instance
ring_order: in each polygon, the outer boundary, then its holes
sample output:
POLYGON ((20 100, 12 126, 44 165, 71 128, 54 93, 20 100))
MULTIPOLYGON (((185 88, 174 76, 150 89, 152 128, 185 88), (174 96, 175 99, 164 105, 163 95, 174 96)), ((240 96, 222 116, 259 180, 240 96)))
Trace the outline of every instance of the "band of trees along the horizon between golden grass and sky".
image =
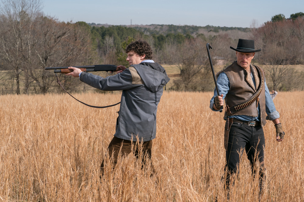
MULTIPOLYGON (((124 49, 133 40, 146 40, 154 60, 173 65, 180 76, 173 90, 212 91, 213 78, 206 43, 212 45, 213 64, 224 68, 235 59, 229 47, 238 38, 253 38, 262 51, 255 63, 267 71, 268 87, 302 90, 304 18, 302 13, 285 19, 274 16, 259 28, 198 27, 175 25, 91 26, 85 22, 58 22, 41 13, 40 0, 2 1, 0 7, 0 93, 40 94, 59 91, 54 72, 45 67, 94 64, 125 65, 124 49), (233 36, 233 37, 232 37, 233 36)), ((102 73, 101 73, 102 74, 102 73)), ((103 74, 102 74, 103 75, 103 74)), ((85 91, 86 85, 58 75, 69 91, 85 91)))

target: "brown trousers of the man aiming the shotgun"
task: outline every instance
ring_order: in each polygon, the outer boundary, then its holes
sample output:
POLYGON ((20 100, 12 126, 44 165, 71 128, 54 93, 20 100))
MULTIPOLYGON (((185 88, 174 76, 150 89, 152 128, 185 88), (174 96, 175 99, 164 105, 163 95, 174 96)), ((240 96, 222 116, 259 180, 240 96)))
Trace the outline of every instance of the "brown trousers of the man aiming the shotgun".
MULTIPOLYGON (((129 141, 124 140, 118 137, 113 137, 112 141, 108 147, 109 158, 111 159, 111 163, 113 163, 113 169, 116 167, 119 155, 121 157, 130 154, 131 152, 138 159, 141 158, 142 161, 142 169, 147 167, 147 164, 150 164, 151 175, 152 177, 155 174, 155 169, 152 164, 152 140, 140 142, 140 141, 129 141), (141 152, 142 151, 142 152, 141 152)), ((100 171, 103 175, 105 159, 102 161, 100 166, 100 171)))

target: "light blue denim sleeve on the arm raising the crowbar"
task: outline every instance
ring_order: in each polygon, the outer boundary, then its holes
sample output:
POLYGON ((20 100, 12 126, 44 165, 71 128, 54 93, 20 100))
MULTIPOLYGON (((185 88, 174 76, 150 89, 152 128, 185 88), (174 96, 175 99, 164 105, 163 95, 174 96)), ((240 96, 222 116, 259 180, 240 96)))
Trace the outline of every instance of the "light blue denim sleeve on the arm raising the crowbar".
MULTIPOLYGON (((229 82, 229 79, 228 79, 226 73, 224 73, 224 72, 220 73, 219 77, 216 80, 216 83, 217 83, 217 88, 219 90, 219 95, 223 94, 223 99, 224 99, 226 94, 230 90, 230 82, 229 82)), ((216 88, 214 88, 214 95, 210 100, 210 106, 209 106, 212 111, 219 111, 219 110, 213 109, 214 98, 216 96, 217 96, 217 91, 216 91, 216 88)))

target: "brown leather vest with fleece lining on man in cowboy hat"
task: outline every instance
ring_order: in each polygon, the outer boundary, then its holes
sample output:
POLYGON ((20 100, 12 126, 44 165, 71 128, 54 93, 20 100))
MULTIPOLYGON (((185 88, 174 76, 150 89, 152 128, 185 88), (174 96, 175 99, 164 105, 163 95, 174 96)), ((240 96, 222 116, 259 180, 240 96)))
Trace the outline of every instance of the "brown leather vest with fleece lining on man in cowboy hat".
MULTIPOLYGON (((254 78, 256 81, 255 86, 258 88, 261 82, 261 78, 258 74, 259 70, 254 65, 250 65, 250 68, 254 69, 254 78)), ((229 107, 250 99, 251 96, 258 90, 255 89, 251 76, 247 75, 247 71, 244 68, 240 67, 237 64, 237 61, 234 61, 223 71, 226 73, 230 81, 230 91, 225 97, 226 105, 229 107)), ((261 74, 263 74, 263 77, 265 78, 265 72, 263 69, 261 71, 261 74)), ((261 112, 260 120, 262 126, 264 126, 266 124, 265 85, 263 85, 258 102, 260 104, 261 112)), ((248 107, 237 111, 232 115, 247 115, 251 117, 257 117, 257 101, 254 101, 254 103, 250 104, 248 107)), ((226 116, 227 112, 225 111, 225 117, 226 116)))

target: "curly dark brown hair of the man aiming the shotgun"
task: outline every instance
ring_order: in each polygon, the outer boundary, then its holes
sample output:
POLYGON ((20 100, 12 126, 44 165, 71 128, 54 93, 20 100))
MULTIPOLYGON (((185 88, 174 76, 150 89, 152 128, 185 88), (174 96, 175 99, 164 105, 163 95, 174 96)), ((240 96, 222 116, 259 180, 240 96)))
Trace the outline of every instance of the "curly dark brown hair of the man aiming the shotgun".
POLYGON ((152 48, 151 48, 150 44, 148 44, 147 41, 142 41, 142 40, 132 41, 127 46, 125 51, 126 51, 126 53, 128 53, 130 51, 134 51, 135 53, 137 53, 140 56, 146 55, 145 56, 146 60, 150 60, 153 57, 152 48))

